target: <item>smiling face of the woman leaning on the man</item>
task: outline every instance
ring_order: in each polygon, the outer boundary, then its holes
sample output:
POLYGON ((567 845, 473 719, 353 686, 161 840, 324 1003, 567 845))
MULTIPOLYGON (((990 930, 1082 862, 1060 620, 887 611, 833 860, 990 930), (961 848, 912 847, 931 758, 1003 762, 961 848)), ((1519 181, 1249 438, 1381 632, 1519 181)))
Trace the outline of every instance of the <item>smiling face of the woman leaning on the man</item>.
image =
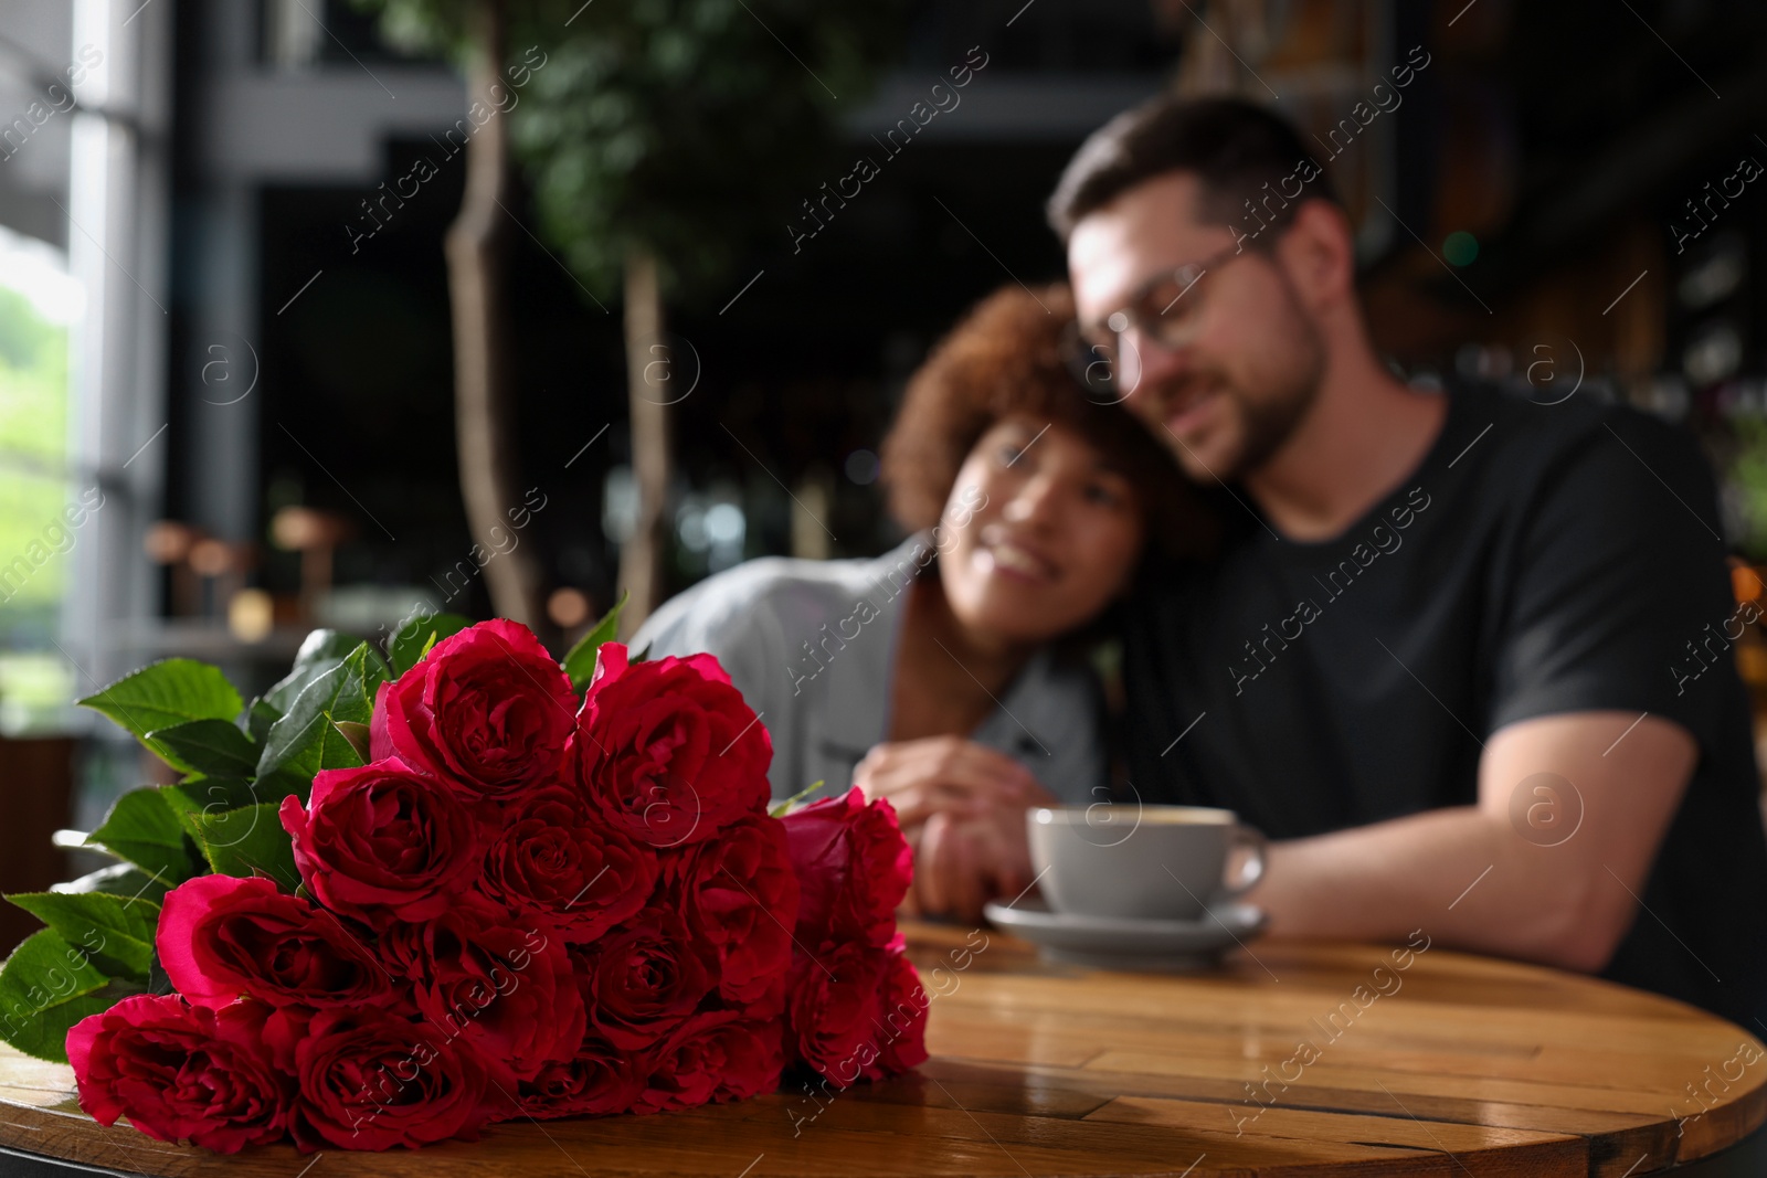
POLYGON ((1141 510, 1083 436, 1005 417, 958 470, 938 549, 945 599, 967 629, 1035 645, 1122 590, 1141 555, 1141 510))

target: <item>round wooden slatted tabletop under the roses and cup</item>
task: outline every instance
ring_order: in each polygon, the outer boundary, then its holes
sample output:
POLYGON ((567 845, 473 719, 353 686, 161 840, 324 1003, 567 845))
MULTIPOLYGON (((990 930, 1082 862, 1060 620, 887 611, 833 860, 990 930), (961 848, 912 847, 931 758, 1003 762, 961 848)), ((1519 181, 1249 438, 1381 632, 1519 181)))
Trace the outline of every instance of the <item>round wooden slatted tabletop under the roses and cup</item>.
MULTIPOLYGON (((1767 1049, 1753 1035, 1551 970, 1444 948, 1398 968, 1391 948, 1255 943, 1217 973, 1161 977, 1044 966, 1000 933, 914 925, 910 938, 938 994, 933 1060, 832 1100, 779 1091, 663 1116, 507 1123, 422 1153, 313 1162, 279 1146, 223 1159, 99 1129, 69 1069, 5 1054, 0 1146, 233 1178, 306 1166, 307 1178, 1636 1178, 1712 1155, 1767 1114, 1767 1049)), ((7 1162, 0 1173, 16 1173, 7 1162)))

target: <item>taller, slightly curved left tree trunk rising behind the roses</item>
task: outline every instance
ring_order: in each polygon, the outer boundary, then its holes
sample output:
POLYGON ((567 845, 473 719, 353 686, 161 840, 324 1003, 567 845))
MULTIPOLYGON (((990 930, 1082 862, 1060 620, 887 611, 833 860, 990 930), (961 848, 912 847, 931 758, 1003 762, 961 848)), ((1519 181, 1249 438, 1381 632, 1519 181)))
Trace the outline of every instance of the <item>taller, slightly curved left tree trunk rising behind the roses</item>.
MULTIPOLYGON (((477 53, 466 67, 466 101, 497 109, 491 87, 505 57, 502 0, 474 0, 470 21, 477 53)), ((516 489, 514 394, 509 380, 504 254, 511 200, 507 115, 493 113, 466 140, 466 196, 447 231, 449 298, 454 307, 454 445, 459 491, 474 540, 493 553, 482 565, 491 613, 541 631, 541 569, 534 551, 497 551, 511 532, 507 512, 521 505, 516 489), (498 532, 493 533, 493 528, 498 532)))

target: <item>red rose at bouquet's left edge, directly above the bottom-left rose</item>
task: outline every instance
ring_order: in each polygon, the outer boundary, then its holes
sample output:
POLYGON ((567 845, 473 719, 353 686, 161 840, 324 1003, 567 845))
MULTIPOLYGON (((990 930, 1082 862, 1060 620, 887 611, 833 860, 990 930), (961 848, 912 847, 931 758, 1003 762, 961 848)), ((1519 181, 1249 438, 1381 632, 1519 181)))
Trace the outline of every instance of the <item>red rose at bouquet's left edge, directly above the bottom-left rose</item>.
POLYGON ((198 1007, 240 994, 274 1005, 385 1005, 392 978, 337 917, 272 880, 196 876, 166 894, 159 964, 198 1007))

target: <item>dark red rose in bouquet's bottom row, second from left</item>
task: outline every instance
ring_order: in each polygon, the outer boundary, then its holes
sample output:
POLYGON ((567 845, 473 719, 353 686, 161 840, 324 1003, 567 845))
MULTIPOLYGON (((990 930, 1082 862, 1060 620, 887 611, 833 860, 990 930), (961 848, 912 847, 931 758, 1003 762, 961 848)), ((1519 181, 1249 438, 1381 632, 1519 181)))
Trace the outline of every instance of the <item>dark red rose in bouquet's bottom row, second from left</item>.
POLYGON ((383 1010, 322 1010, 295 1038, 295 1143, 341 1150, 474 1139, 484 1125, 477 1056, 428 1023, 383 1010))

